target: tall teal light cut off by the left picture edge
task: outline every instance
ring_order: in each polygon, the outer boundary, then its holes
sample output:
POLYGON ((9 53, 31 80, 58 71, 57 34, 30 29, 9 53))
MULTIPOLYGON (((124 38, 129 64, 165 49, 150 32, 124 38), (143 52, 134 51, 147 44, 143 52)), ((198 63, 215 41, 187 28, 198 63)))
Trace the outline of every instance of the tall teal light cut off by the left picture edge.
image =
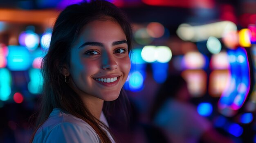
POLYGON ((6 101, 11 94, 11 74, 6 68, 0 68, 0 100, 6 101))

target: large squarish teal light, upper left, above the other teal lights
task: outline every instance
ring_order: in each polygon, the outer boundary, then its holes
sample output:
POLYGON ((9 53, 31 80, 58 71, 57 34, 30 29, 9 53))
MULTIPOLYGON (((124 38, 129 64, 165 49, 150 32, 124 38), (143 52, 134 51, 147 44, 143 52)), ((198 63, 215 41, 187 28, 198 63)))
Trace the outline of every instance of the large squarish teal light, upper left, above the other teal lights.
POLYGON ((27 70, 31 66, 30 53, 24 46, 8 46, 7 67, 10 70, 27 70))

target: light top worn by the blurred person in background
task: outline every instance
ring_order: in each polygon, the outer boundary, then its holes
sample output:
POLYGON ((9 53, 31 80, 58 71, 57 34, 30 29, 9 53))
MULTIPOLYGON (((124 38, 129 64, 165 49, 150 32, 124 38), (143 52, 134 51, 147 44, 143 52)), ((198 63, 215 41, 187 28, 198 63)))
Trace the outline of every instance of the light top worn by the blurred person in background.
POLYGON ((195 106, 176 99, 168 99, 160 108, 154 123, 162 128, 171 143, 198 143, 202 134, 211 128, 211 123, 195 106))

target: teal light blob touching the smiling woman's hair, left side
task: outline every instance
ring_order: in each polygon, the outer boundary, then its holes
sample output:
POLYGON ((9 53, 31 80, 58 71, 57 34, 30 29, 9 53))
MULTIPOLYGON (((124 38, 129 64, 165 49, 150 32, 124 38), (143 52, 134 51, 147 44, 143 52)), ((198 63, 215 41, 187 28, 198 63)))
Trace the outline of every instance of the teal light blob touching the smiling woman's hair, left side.
POLYGON ((43 77, 40 69, 29 70, 30 82, 27 85, 29 92, 32 94, 39 94, 43 88, 43 77))

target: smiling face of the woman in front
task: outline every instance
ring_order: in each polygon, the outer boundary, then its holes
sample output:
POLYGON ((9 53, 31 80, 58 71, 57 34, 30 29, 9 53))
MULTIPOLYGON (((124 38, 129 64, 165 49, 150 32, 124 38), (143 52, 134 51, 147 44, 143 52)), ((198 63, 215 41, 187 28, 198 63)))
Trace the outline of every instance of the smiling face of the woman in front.
POLYGON ((112 20, 85 25, 72 46, 69 71, 70 86, 83 99, 117 99, 130 71, 121 26, 112 20))

